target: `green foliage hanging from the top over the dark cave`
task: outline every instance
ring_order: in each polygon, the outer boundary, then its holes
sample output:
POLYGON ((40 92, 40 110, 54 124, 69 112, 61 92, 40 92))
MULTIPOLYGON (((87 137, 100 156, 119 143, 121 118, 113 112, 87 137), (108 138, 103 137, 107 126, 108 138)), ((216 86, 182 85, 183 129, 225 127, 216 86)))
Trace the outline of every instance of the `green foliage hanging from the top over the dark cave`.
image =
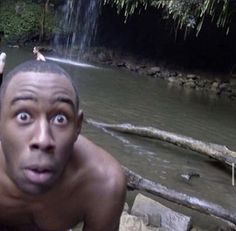
POLYGON ((163 11, 164 19, 176 22, 177 30, 195 30, 196 34, 206 18, 228 33, 235 13, 234 0, 104 0, 104 4, 115 6, 118 13, 124 14, 125 20, 137 11, 141 13, 148 7, 155 7, 163 11))

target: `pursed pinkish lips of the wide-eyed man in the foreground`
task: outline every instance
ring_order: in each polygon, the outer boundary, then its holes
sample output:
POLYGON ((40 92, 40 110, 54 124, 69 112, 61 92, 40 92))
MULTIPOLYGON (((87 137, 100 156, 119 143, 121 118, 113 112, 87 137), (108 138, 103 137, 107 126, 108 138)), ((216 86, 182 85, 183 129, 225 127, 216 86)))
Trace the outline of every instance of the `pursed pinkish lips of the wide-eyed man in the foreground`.
POLYGON ((24 174, 33 184, 47 184, 54 176, 51 168, 37 166, 25 168, 24 174))

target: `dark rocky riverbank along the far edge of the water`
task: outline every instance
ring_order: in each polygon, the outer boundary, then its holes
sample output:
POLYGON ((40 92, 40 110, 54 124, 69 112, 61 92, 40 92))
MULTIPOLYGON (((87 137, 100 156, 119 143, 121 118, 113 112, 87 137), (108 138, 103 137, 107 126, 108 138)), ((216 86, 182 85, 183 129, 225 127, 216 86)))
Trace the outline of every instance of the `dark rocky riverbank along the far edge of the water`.
POLYGON ((204 91, 236 100, 236 75, 233 74, 190 72, 181 70, 180 67, 173 68, 161 62, 157 64, 153 60, 106 48, 92 48, 82 56, 82 59, 92 63, 127 69, 150 78, 163 79, 176 87, 204 91))

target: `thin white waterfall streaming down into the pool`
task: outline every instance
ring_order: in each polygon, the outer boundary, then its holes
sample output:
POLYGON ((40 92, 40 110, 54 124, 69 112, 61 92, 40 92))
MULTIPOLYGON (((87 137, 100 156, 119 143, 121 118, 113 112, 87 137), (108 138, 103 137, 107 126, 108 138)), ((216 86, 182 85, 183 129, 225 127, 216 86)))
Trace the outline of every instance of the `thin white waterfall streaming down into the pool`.
POLYGON ((97 19, 101 0, 66 0, 62 8, 60 33, 54 38, 57 50, 63 50, 63 56, 79 59, 96 35, 97 19))

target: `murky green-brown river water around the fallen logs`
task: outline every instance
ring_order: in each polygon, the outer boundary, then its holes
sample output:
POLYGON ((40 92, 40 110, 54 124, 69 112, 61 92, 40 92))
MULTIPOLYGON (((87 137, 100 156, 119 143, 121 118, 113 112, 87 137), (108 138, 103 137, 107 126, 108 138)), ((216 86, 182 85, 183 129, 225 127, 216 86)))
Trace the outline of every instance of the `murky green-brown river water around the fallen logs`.
MULTIPOLYGON (((7 71, 32 59, 31 50, 6 49, 7 71)), ((99 66, 59 63, 80 89, 86 118, 105 123, 131 123, 226 145, 236 151, 236 101, 204 92, 184 90, 163 80, 99 66)), ((201 154, 161 141, 108 132, 84 124, 82 133, 111 152, 123 165, 145 178, 159 182, 235 211, 236 186, 230 169, 201 154), (200 177, 184 181, 180 176, 195 172, 200 177)), ((131 202, 135 193, 128 193, 131 202)), ((205 230, 216 230, 216 219, 200 215, 153 197, 193 216, 205 230)))

